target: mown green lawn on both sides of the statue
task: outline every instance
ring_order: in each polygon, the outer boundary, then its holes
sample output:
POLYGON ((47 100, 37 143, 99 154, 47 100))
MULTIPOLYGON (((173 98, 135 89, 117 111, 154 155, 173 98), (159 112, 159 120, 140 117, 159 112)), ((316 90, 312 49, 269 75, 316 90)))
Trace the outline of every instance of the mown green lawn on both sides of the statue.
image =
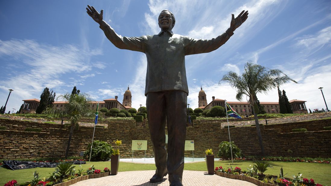
MULTIPOLYGON (((215 167, 222 166, 223 168, 230 167, 231 161, 215 161, 215 167)), ((265 173, 279 175, 280 167, 283 167, 285 177, 292 178, 292 175, 297 175, 299 172, 303 173, 305 178, 313 178, 315 183, 320 183, 323 186, 331 186, 331 165, 330 164, 315 164, 315 163, 302 163, 302 162, 273 162, 269 161, 273 168, 269 168, 265 173)), ((234 161, 232 167, 240 167, 242 170, 247 170, 249 165, 253 166, 252 161, 234 161)), ((82 165, 82 168, 86 170, 91 165, 95 168, 103 170, 104 167, 110 169, 110 162, 91 162, 90 164, 82 165)), ((80 169, 79 165, 75 165, 75 169, 80 169)), ((132 170, 155 170, 154 164, 136 164, 120 162, 118 171, 132 171, 132 170)), ((187 163, 184 167, 185 170, 200 170, 207 171, 206 162, 187 163)), ((48 177, 49 174, 55 170, 55 168, 30 168, 23 170, 9 170, 0 167, 0 185, 4 185, 6 182, 16 179, 19 183, 30 181, 33 177, 34 171, 39 172, 40 178, 48 177)))

